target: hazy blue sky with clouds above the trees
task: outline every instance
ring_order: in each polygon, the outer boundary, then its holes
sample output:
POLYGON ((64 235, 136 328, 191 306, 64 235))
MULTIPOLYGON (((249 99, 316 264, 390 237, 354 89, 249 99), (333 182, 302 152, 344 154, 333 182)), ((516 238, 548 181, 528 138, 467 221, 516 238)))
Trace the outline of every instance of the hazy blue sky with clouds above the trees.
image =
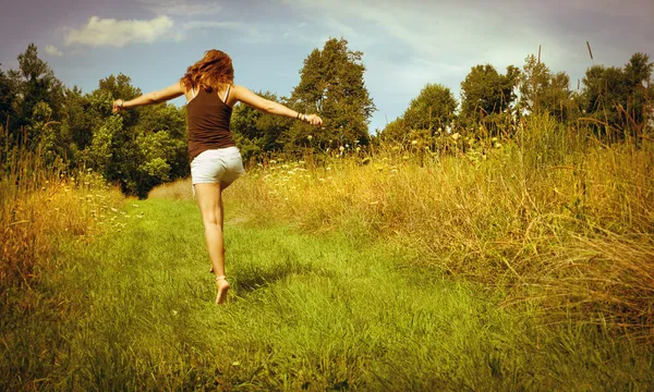
MULTIPOLYGON (((36 44, 66 86, 89 93, 123 73, 143 93, 175 83, 208 49, 234 83, 290 96, 304 59, 329 38, 363 52, 377 107, 370 131, 401 115, 427 83, 460 85, 477 64, 500 73, 537 54, 577 88, 593 64, 654 61, 654 0, 0 0, 0 68, 36 44), (589 56, 590 42, 593 59, 589 56)), ((172 101, 184 105, 184 98, 172 101)))

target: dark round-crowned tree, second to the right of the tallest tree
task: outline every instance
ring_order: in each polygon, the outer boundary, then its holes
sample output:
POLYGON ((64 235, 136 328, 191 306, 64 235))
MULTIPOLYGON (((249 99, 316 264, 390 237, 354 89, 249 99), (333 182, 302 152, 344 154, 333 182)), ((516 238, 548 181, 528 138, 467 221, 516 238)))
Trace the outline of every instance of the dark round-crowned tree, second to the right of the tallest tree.
POLYGON ((497 114, 509 114, 519 77, 520 70, 513 65, 507 66, 506 75, 499 74, 491 64, 473 66, 461 82, 463 122, 467 125, 491 125, 497 120, 497 114))

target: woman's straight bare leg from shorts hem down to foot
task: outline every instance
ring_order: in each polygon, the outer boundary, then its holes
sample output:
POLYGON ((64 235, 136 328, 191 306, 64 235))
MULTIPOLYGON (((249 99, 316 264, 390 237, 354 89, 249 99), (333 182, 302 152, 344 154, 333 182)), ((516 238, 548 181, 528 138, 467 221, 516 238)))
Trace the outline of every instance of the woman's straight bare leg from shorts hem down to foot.
MULTIPOLYGON (((211 268, 216 278, 225 277, 225 240, 222 235, 223 207, 221 184, 195 184, 195 198, 205 226, 205 241, 211 268)), ((216 280, 218 285, 217 304, 223 304, 227 298, 229 283, 227 280, 216 280)))

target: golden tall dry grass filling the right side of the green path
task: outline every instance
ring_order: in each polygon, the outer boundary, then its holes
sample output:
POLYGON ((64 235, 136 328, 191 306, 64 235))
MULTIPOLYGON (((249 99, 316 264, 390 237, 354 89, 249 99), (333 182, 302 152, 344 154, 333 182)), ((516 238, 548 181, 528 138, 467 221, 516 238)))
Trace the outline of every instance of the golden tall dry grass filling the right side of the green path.
POLYGON ((392 241, 419 255, 413 265, 512 287, 513 302, 537 302, 549 320, 651 336, 651 143, 606 146, 548 118, 510 140, 445 138, 448 155, 416 140, 365 157, 270 161, 227 197, 252 219, 392 241))

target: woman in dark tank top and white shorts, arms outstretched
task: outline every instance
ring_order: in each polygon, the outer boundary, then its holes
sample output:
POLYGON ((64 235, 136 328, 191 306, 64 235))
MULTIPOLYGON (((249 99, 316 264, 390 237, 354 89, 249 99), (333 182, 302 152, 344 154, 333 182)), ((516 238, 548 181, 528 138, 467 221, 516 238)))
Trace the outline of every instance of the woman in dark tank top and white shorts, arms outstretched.
POLYGON ((113 101, 113 112, 117 113, 123 109, 159 103, 182 95, 186 97, 191 177, 205 228, 211 272, 216 274, 217 304, 225 303, 229 290, 225 273, 222 191, 243 173, 241 154, 229 131, 233 106, 243 102, 263 112, 298 119, 312 125, 323 123, 316 114, 299 113, 264 99, 245 87, 234 85, 230 57, 213 49, 206 51, 202 60, 189 66, 178 83, 132 100, 113 101))

